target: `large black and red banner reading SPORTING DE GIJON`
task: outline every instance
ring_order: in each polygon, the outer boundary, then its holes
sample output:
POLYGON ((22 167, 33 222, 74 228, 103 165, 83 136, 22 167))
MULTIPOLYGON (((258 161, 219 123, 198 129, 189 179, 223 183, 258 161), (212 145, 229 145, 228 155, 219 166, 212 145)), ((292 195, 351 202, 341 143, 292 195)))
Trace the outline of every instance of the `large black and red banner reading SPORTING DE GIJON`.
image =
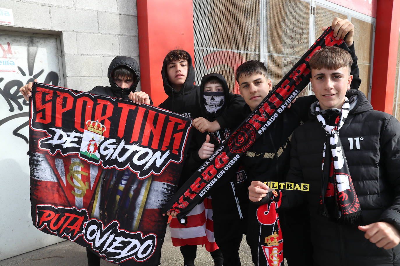
POLYGON ((34 83, 32 220, 120 265, 158 265, 192 120, 154 106, 34 83))

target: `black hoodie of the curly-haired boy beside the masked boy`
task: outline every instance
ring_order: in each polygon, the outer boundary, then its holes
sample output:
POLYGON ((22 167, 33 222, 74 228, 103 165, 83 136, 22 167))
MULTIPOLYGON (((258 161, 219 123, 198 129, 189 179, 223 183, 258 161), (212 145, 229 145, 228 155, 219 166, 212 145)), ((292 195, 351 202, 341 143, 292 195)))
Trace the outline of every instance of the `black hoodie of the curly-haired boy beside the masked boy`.
MULTIPOLYGON (((194 67, 190 55, 188 64, 188 75, 186 76, 185 83, 182 85, 180 91, 176 91, 168 80, 167 61, 164 59, 161 75, 164 84, 164 91, 166 95, 168 95, 168 98, 158 107, 194 119, 204 115, 202 112, 202 110, 204 110, 204 105, 202 105, 203 91, 200 90, 198 86, 194 85, 194 67)), ((220 76, 222 77, 222 75, 220 76)), ((224 77, 222 78, 225 81, 224 77)), ((229 90, 227 91, 229 92, 229 90)), ((226 102, 226 104, 228 104, 227 107, 224 108, 224 111, 222 111, 218 117, 216 117, 216 120, 220 124, 221 128, 232 128, 238 126, 241 121, 238 121, 237 117, 242 116, 242 107, 244 105, 243 98, 240 95, 230 94, 229 102, 226 102)))

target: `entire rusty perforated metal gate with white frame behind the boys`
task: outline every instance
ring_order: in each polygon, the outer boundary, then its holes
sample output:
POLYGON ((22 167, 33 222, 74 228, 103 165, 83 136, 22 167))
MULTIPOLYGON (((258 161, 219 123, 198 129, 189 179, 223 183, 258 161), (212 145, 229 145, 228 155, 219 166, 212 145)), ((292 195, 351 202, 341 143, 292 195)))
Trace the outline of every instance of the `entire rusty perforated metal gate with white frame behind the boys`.
MULTIPOLYGON (((222 73, 238 93, 235 70, 248 60, 264 61, 276 85, 304 55, 321 28, 335 17, 355 25, 356 54, 367 96, 371 80, 375 20, 325 0, 193 0, 196 84, 209 73, 222 73)), ((312 94, 311 87, 300 96, 312 94)))

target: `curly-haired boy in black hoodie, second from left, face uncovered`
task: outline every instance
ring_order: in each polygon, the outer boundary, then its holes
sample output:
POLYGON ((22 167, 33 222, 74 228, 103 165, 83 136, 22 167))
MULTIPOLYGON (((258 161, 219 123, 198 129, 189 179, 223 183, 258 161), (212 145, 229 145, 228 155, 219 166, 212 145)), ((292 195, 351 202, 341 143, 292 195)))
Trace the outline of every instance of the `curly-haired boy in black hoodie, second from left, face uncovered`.
MULTIPOLYGON (((164 59, 161 75, 164 82, 164 91, 168 95, 168 98, 158 107, 194 119, 193 125, 197 128, 201 128, 202 132, 215 132, 221 128, 227 128, 230 125, 234 127, 234 125, 240 122, 236 117, 240 116, 244 101, 240 95, 233 94, 230 94, 229 99, 226 99, 228 101, 228 108, 224 108, 214 121, 210 122, 202 117, 204 105, 201 107, 200 103, 203 102, 204 99, 203 92, 198 86, 194 85, 194 67, 192 65, 192 59, 186 51, 170 51, 164 59)), ((226 91, 228 92, 228 90, 226 91)), ((194 136, 189 143, 188 158, 191 158, 190 160, 193 159, 190 155, 196 154, 205 140, 204 138, 201 142, 197 142, 196 136, 198 135, 198 132, 196 131, 197 130, 194 130, 194 136)), ((196 164, 196 166, 200 164, 196 164)), ((188 162, 188 160, 185 161, 179 181, 179 187, 192 175, 194 171, 195 169, 193 168, 192 162, 188 162)), ((169 215, 169 213, 167 214, 169 215)), ((184 245, 180 247, 180 250, 184 256, 185 265, 194 265, 196 246, 184 245)), ((220 263, 222 258, 220 251, 215 250, 211 255, 214 258, 215 264, 219 265, 218 263, 220 263)))

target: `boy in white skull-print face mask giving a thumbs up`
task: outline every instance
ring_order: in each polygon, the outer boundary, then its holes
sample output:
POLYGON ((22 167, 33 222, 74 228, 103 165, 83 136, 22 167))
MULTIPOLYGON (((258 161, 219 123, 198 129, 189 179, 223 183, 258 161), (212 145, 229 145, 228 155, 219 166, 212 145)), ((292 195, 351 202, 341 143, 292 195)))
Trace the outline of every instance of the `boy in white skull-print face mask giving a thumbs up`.
MULTIPOLYGON (((199 92, 203 96, 200 97, 202 117, 199 120, 206 119, 210 122, 216 120, 226 108, 231 106, 232 99, 236 97, 229 92, 225 78, 216 73, 202 78, 199 92)), ((198 130, 194 132, 192 141, 201 148, 188 154, 187 165, 191 166, 190 173, 196 171, 197 167, 214 153, 214 149, 222 144, 229 136, 230 130, 234 128, 221 128, 216 132, 201 133, 204 129, 200 126, 198 130)), ((247 211, 243 207, 247 209, 249 184, 246 180, 238 181, 234 171, 227 175, 232 178, 220 184, 218 192, 211 195, 214 237, 224 257, 224 265, 240 265, 238 250, 246 229, 244 216, 247 211), (238 196, 242 197, 238 198, 238 196)))

